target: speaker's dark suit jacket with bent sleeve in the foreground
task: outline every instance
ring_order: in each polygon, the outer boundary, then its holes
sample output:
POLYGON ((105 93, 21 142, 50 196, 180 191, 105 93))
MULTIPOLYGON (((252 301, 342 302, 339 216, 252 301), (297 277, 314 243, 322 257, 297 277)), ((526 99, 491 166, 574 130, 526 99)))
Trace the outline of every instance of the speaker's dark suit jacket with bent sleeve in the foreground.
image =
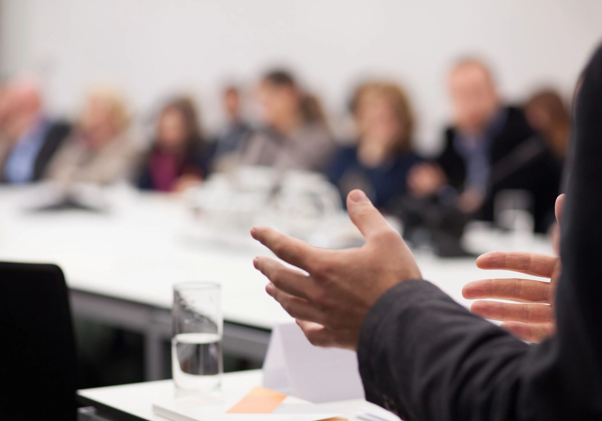
POLYGON ((575 126, 557 334, 526 345, 429 282, 403 282, 362 326, 367 399, 406 421, 602 419, 602 49, 586 69, 575 126))

